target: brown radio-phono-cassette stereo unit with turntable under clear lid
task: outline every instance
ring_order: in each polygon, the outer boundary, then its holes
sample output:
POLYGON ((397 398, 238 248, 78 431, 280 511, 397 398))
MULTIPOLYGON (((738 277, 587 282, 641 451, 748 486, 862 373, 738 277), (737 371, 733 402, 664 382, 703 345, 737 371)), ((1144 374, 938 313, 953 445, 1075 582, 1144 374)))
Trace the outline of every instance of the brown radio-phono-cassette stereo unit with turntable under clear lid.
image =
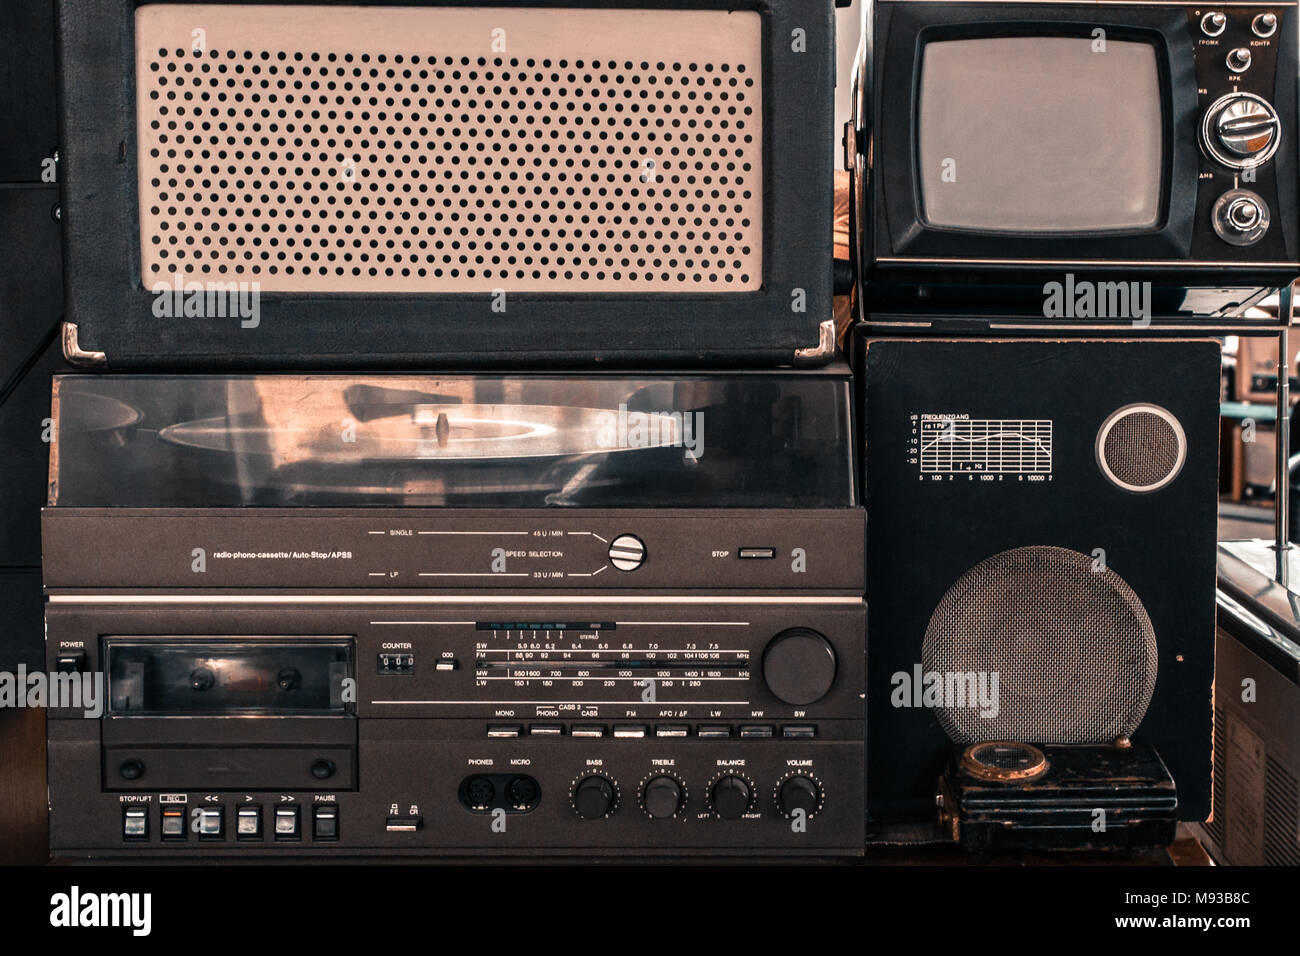
POLYGON ((850 393, 60 376, 52 852, 861 853, 850 393))

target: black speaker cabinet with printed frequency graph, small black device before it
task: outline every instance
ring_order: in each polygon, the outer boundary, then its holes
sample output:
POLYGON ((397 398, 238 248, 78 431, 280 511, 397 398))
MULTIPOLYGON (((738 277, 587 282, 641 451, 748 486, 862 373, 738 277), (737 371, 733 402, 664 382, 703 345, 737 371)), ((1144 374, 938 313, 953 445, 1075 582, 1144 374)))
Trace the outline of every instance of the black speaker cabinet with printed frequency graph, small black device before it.
POLYGON ((936 797, 975 848, 1158 845, 1205 819, 1218 342, 857 359, 872 834, 936 797))

